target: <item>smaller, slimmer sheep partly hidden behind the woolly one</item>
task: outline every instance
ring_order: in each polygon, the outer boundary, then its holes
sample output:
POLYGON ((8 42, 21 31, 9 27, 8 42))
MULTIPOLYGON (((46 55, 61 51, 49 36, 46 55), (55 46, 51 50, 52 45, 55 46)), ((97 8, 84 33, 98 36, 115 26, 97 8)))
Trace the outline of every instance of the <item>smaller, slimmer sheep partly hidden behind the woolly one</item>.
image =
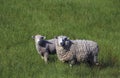
POLYGON ((44 59, 45 63, 47 63, 49 54, 56 53, 56 39, 45 40, 45 37, 42 35, 35 35, 32 36, 32 38, 35 40, 37 52, 41 55, 41 58, 44 59))

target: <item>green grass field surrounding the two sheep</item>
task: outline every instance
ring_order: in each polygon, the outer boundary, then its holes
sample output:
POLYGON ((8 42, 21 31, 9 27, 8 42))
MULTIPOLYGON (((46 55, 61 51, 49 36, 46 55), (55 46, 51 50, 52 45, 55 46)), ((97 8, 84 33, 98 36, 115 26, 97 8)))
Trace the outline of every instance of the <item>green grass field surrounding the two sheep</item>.
POLYGON ((120 0, 0 0, 0 78, 120 78, 120 0), (90 39, 100 66, 45 64, 32 35, 90 39))

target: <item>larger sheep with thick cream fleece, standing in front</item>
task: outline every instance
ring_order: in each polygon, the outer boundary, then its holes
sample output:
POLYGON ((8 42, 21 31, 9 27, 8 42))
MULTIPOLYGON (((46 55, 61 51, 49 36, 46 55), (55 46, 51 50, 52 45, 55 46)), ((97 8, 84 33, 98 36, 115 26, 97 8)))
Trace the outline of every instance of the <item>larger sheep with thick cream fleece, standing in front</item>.
POLYGON ((70 40, 67 36, 56 37, 56 53, 62 62, 75 63, 88 62, 90 65, 98 64, 99 48, 91 40, 70 40))

